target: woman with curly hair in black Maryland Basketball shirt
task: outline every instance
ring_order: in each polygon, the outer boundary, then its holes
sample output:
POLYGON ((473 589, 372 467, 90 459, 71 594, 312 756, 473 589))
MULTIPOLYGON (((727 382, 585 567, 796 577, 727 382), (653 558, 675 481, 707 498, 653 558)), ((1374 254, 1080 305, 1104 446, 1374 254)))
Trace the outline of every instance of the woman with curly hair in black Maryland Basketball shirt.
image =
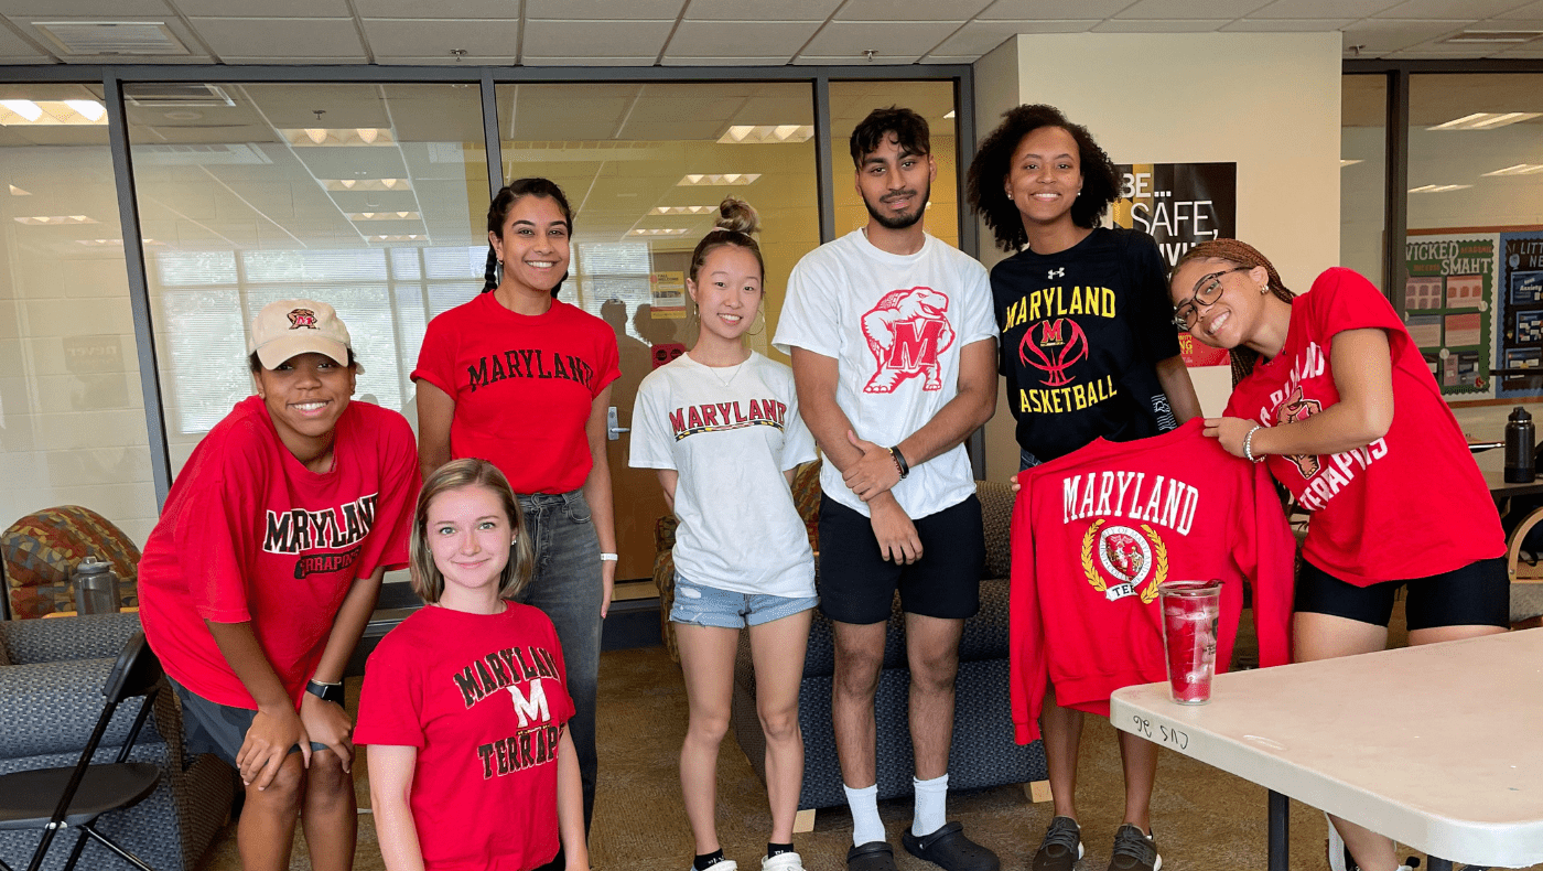
MULTIPOLYGON (((1162 255, 1151 236, 1100 225, 1119 175, 1088 128, 1048 105, 1008 111, 975 154, 966 195, 997 246, 1015 252, 992 267, 991 290, 1021 468, 1199 417, 1162 255)), ((1034 871, 1071 871, 1082 856, 1072 792, 1083 712, 1055 704, 1054 687, 1043 710, 1055 818, 1034 871)), ((1150 834, 1157 747, 1120 732, 1120 755, 1125 825, 1109 868, 1153 871, 1162 865, 1150 834)))

